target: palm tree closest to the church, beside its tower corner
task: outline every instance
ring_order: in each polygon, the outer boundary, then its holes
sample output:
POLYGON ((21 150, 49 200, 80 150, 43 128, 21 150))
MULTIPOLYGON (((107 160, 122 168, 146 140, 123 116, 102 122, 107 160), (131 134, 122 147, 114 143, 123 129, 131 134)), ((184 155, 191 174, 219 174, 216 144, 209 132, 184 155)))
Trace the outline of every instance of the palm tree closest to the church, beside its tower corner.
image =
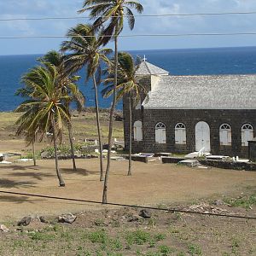
MULTIPOLYGON (((129 104, 129 167, 128 176, 131 176, 131 153, 132 153, 132 111, 131 108, 136 106, 140 101, 140 94, 146 92, 142 84, 137 83, 136 72, 139 68, 141 60, 137 59, 135 62, 132 56, 126 52, 119 52, 119 68, 118 68, 118 86, 117 86, 117 101, 124 96, 128 98, 129 104)), ((113 94, 113 73, 112 67, 108 69, 108 79, 105 79, 105 84, 108 85, 102 94, 108 97, 113 94)))

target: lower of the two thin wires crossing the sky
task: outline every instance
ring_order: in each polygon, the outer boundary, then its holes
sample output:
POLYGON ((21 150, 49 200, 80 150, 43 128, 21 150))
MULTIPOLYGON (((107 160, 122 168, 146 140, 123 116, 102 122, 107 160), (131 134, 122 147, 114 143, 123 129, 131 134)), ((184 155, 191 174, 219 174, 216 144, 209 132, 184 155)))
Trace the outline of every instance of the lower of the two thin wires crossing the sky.
MULTIPOLYGON (((256 35, 256 32, 230 32, 230 33, 183 33, 183 34, 134 34, 134 35, 119 35, 119 38, 139 38, 139 37, 222 37, 222 36, 251 36, 256 35)), ((73 36, 73 38, 91 38, 93 36, 73 36)), ((15 36, 15 37, 0 37, 0 39, 29 39, 29 38, 67 38, 67 36, 15 36)), ((101 36, 101 38, 112 38, 112 36, 101 36)))

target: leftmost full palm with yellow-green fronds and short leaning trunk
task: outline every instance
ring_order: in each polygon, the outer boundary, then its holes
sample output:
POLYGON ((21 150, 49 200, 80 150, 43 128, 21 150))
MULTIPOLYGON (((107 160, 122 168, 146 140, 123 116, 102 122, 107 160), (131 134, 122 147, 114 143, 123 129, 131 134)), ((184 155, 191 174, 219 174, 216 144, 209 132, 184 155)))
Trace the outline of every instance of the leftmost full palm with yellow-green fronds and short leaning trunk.
POLYGON ((64 125, 70 124, 70 114, 67 104, 70 96, 63 95, 59 87, 60 75, 54 65, 45 63, 45 66, 32 68, 22 77, 25 87, 17 94, 28 99, 22 102, 16 112, 24 112, 17 120, 17 133, 26 131, 28 135, 37 131, 39 141, 43 140, 47 131, 52 131, 55 148, 55 169, 61 187, 65 186, 61 177, 57 157, 57 138, 61 140, 64 125))

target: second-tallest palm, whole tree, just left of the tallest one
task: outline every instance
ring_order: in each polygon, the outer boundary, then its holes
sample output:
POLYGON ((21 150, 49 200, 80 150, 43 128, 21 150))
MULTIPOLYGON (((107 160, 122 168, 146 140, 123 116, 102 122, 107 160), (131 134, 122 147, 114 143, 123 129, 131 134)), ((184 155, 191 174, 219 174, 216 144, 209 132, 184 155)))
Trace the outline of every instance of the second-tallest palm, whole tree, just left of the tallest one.
POLYGON ((99 118, 99 103, 98 103, 98 84, 101 80, 101 62, 108 63, 108 57, 112 49, 101 48, 101 40, 93 31, 92 26, 79 24, 71 28, 67 32, 69 41, 64 41, 61 44, 62 51, 69 51, 71 54, 66 56, 67 69, 70 72, 77 72, 82 67, 86 66, 86 81, 93 79, 96 103, 96 122, 99 139, 100 151, 100 180, 104 180, 103 160, 102 160, 102 132, 99 118))

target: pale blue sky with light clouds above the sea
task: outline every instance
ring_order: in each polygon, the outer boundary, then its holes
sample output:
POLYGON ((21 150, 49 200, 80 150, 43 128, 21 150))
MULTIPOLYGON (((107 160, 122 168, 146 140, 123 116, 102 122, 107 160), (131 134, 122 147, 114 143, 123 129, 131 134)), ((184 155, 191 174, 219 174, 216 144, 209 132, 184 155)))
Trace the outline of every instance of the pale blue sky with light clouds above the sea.
MULTIPOLYGON (((252 12, 255 0, 140 0, 144 15, 252 12)), ((81 17, 77 11, 83 0, 1 0, 0 19, 81 17)), ((223 15, 193 17, 136 17, 131 32, 125 24, 124 35, 130 34, 180 34, 180 33, 230 33, 256 32, 256 15, 223 15)), ((22 20, 0 21, 0 37, 64 36, 78 20, 22 20)), ((64 38, 0 39, 0 55, 44 54, 59 49, 64 38)), ((112 45, 110 45, 112 46, 112 45)), ((132 49, 183 49, 256 46, 256 36, 178 37, 178 38, 120 38, 119 48, 132 49)))

